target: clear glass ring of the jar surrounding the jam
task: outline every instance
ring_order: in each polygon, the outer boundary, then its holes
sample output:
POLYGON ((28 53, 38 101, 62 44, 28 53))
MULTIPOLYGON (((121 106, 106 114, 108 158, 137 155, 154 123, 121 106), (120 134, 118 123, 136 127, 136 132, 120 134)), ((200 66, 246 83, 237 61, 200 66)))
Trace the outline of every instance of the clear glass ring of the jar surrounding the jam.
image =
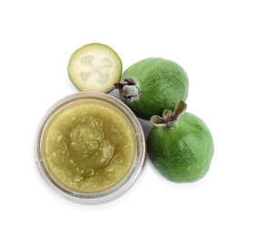
POLYGON ((44 117, 39 123, 38 129, 35 133, 34 138, 34 160, 37 166, 37 169, 43 176, 44 180, 48 182, 48 184, 54 188, 57 192, 60 192, 64 195, 65 198, 74 201, 74 202, 81 202, 81 203, 100 203, 100 202, 108 202, 116 197, 126 192, 132 185, 133 182, 137 179, 139 173, 143 169, 143 164, 146 158, 146 145, 145 145, 145 138, 143 134, 143 128, 141 123, 139 122, 138 118, 135 114, 131 111, 131 109, 118 100, 117 98, 113 97, 112 95, 100 92, 79 92, 73 93, 71 95, 65 96, 58 102, 54 103, 50 107, 50 109, 44 114, 44 117), (42 138, 44 135, 44 129, 47 127, 47 123, 51 120, 54 116, 54 113, 62 109, 65 105, 78 102, 79 100, 84 101, 88 99, 99 100, 105 103, 109 103, 114 107, 118 108, 121 113, 125 115, 125 117, 129 120, 131 125, 133 126, 133 131, 135 134, 136 140, 136 154, 135 159, 133 161, 133 165, 128 172, 128 174, 123 178, 122 181, 118 182, 117 184, 113 185, 113 187, 103 191, 103 192, 93 192, 93 193, 82 193, 82 192, 75 192, 68 188, 65 188, 60 182, 54 180, 54 176, 47 170, 47 166, 44 163, 44 156, 42 153, 42 138))

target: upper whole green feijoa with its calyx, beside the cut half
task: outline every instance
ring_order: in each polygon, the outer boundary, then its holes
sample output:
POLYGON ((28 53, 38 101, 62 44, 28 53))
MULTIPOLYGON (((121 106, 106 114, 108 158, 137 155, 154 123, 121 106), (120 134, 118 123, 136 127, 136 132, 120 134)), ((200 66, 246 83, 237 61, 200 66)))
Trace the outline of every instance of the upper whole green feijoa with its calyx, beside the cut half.
POLYGON ((120 97, 138 117, 150 120, 185 100, 189 90, 187 74, 179 64, 163 58, 147 58, 131 65, 114 84, 120 97))

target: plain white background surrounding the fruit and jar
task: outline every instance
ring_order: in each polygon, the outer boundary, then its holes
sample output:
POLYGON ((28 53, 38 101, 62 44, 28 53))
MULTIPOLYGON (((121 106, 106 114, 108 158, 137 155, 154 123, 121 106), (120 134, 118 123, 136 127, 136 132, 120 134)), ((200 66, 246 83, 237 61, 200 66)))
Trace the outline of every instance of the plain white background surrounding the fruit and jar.
MULTIPOLYGON (((255 235, 255 1, 1 1, 1 235, 255 235), (199 182, 168 182, 146 162, 122 197, 65 200, 34 164, 37 125, 75 93, 70 55, 108 44, 125 70, 150 56, 181 64, 188 112, 212 131, 215 153, 199 182)), ((144 126, 150 127, 149 124, 144 126)))

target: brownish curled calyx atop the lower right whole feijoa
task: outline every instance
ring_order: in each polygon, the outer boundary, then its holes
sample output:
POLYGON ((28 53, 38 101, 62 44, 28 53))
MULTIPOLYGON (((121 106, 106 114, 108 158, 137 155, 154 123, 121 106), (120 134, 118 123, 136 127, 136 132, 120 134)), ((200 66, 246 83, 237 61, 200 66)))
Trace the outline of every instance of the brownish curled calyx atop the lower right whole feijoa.
POLYGON ((150 119, 151 123, 155 127, 173 128, 179 121, 182 113, 187 109, 187 104, 184 101, 180 101, 176 104, 174 112, 165 109, 162 113, 162 117, 159 115, 153 115, 150 119))

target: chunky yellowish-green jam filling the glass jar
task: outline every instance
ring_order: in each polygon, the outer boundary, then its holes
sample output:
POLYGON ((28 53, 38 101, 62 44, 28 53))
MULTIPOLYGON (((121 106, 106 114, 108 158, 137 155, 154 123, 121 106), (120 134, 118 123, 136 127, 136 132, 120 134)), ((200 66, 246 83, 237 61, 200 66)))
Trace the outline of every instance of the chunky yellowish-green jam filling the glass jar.
POLYGON ((136 138, 118 108, 87 99, 54 113, 44 129, 42 147, 55 182, 74 192, 103 192, 132 169, 136 138))

